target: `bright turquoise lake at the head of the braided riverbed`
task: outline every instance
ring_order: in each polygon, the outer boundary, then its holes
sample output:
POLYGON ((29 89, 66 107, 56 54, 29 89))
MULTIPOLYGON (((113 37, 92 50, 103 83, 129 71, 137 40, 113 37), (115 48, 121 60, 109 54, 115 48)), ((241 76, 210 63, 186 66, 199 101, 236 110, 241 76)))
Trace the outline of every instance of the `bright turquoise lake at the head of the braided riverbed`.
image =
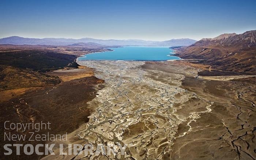
POLYGON ((109 48, 113 51, 96 52, 79 57, 78 60, 178 60, 179 57, 167 56, 173 54, 173 50, 168 47, 144 47, 127 46, 120 48, 109 48))

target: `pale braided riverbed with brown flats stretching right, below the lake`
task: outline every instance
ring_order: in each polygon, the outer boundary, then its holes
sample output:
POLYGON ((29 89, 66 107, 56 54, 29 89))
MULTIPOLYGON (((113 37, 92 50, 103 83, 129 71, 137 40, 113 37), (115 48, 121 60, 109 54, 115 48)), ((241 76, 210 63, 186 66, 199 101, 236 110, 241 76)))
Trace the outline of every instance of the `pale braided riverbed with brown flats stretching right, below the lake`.
MULTIPOLYGON (((256 159, 255 76, 204 78, 182 61, 77 61, 102 89, 89 121, 64 144, 128 144, 125 155, 49 155, 44 159, 256 159)), ((70 148, 69 148, 70 149, 70 148)), ((107 150, 107 148, 105 148, 107 150)))

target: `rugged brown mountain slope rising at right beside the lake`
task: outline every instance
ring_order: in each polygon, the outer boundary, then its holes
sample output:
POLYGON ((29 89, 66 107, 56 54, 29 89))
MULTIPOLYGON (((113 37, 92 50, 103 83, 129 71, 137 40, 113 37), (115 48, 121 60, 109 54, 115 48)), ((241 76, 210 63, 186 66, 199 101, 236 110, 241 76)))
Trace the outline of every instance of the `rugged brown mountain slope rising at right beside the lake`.
POLYGON ((256 30, 203 38, 177 53, 186 59, 204 59, 217 69, 256 74, 256 30))

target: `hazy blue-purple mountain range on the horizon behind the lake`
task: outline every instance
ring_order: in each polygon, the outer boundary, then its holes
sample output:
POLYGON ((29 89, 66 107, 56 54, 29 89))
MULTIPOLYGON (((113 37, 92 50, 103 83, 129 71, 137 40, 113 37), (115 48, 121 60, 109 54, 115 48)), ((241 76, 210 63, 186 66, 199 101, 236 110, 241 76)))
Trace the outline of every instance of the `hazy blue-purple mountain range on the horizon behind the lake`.
POLYGON ((0 44, 14 45, 72 45, 74 43, 98 43, 100 45, 118 45, 118 46, 188 46, 196 42, 193 39, 171 39, 169 41, 144 41, 140 39, 94 39, 94 38, 23 38, 23 37, 7 37, 1 38, 0 44))

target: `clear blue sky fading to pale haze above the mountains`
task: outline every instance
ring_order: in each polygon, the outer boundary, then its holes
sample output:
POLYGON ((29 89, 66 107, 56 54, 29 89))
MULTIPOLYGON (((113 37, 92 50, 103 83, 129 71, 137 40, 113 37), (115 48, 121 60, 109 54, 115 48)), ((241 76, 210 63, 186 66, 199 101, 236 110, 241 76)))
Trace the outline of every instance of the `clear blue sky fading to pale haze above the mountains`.
POLYGON ((214 38, 256 30, 256 1, 1 1, 0 38, 214 38))

